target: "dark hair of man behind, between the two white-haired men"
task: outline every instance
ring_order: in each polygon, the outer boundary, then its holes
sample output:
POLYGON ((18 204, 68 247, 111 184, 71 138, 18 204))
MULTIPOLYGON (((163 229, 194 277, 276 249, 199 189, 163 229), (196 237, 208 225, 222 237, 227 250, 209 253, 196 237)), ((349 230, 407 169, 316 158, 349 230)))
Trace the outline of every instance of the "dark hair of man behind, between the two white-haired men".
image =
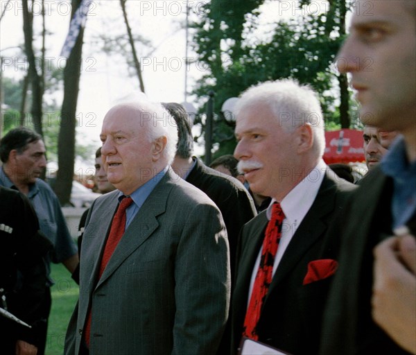
POLYGON ((179 103, 162 103, 162 106, 173 116, 177 125, 176 155, 184 159, 191 157, 193 137, 187 110, 179 103))

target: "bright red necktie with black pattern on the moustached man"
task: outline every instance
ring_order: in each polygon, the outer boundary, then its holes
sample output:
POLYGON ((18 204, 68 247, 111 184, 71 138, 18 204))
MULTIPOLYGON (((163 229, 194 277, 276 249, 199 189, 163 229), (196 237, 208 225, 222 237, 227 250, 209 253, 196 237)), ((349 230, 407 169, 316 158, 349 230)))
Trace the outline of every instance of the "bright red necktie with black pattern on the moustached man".
POLYGON ((277 246, 281 237, 283 220, 284 213, 279 202, 275 202, 272 205, 272 217, 266 227, 259 270, 257 270, 256 279, 254 280, 247 313, 245 313, 243 336, 254 340, 259 340, 256 327, 260 319, 261 307, 264 300, 266 300, 268 288, 272 282, 273 264, 275 263, 277 246))

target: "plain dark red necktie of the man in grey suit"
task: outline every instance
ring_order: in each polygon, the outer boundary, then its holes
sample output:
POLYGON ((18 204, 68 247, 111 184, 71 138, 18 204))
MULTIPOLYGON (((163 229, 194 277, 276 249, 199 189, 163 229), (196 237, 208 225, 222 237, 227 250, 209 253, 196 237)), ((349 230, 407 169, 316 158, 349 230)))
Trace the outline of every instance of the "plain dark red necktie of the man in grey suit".
MULTIPOLYGON (((110 260, 112 253, 116 249, 117 244, 119 243, 121 237, 124 234, 125 230, 125 209, 131 205, 133 202, 131 197, 125 197, 123 200, 121 200, 119 208, 116 211, 116 214, 114 214, 111 228, 110 228, 110 234, 108 234, 107 243, 105 243, 105 248, 103 252, 103 258, 101 259, 101 265, 100 265, 100 272, 98 273, 98 280, 101 279, 101 275, 103 275, 105 266, 107 266, 108 261, 110 260)), ((89 347, 89 336, 91 333, 91 309, 92 307, 89 307, 88 317, 87 317, 87 324, 85 324, 85 343, 87 343, 87 347, 89 347)))

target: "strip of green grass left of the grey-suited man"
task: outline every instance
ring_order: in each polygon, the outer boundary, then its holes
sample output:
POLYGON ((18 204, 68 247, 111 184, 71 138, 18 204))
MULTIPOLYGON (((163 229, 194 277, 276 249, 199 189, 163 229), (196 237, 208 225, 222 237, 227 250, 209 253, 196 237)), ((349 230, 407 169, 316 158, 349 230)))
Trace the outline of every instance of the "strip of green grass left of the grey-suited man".
POLYGON ((62 264, 51 264, 52 309, 49 316, 45 355, 62 355, 69 318, 78 300, 78 285, 62 264))

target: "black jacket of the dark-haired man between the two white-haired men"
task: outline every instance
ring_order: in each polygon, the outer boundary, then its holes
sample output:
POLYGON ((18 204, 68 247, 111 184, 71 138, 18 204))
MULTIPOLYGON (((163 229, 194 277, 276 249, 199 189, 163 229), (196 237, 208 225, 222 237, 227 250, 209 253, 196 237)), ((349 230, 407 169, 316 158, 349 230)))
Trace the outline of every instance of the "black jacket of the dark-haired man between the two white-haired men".
POLYGON ((229 243, 229 259, 234 270, 235 254, 241 227, 257 215, 256 206, 247 189, 232 176, 203 164, 200 159, 189 173, 187 182, 207 193, 223 214, 229 243))

